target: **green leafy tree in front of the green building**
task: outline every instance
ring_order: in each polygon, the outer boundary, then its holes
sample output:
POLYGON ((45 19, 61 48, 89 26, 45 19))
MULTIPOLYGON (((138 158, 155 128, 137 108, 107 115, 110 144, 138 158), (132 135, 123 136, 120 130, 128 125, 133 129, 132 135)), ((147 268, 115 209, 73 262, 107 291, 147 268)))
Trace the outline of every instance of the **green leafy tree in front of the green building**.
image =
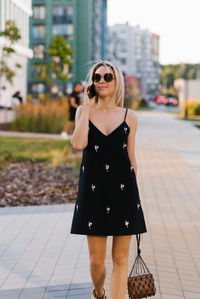
POLYGON ((53 36, 46 51, 45 63, 36 64, 39 75, 35 79, 46 83, 47 96, 51 92, 54 80, 65 83, 69 80, 69 67, 73 64, 73 50, 67 39, 62 35, 53 36))

